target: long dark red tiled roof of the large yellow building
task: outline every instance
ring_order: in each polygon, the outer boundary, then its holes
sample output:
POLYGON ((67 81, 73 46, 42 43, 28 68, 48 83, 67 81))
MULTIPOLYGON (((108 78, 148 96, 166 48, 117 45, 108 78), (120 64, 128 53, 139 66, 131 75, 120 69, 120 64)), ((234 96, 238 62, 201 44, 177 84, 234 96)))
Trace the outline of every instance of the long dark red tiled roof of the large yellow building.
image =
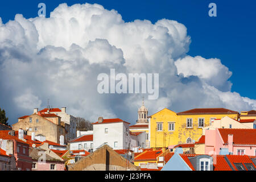
POLYGON ((225 108, 197 108, 197 109, 191 109, 182 111, 179 114, 239 114, 237 111, 225 109, 225 108))

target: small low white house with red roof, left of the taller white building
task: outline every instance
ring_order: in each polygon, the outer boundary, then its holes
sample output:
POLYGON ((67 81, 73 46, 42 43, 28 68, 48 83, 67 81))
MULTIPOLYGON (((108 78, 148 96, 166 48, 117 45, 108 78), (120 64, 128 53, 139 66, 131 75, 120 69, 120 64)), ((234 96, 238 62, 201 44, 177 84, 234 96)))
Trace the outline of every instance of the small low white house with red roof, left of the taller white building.
POLYGON ((70 142, 70 148, 69 150, 86 150, 89 152, 93 151, 93 135, 81 135, 80 137, 77 137, 73 139, 70 142))

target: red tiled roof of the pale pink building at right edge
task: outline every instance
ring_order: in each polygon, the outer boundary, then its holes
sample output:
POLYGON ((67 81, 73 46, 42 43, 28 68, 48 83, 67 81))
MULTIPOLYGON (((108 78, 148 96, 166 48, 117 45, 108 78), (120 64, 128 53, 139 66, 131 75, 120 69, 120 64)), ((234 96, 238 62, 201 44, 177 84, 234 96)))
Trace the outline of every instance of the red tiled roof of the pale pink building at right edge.
POLYGON ((234 144, 256 144, 255 129, 218 129, 224 143, 228 143, 228 135, 233 134, 234 144))

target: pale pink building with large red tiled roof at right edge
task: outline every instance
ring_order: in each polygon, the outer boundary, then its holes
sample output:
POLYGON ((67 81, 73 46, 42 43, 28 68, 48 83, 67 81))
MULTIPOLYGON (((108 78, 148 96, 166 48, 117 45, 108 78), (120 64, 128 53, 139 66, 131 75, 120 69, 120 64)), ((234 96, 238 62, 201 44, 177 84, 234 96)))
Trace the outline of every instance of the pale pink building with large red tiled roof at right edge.
POLYGON ((256 156, 255 129, 205 130, 205 154, 256 156))

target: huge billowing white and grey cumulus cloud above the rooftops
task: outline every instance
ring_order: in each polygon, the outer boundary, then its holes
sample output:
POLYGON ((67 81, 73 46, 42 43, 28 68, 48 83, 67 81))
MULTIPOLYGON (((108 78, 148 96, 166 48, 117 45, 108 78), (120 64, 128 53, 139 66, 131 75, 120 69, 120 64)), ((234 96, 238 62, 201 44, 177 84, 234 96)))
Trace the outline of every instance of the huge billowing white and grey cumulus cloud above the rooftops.
POLYGON ((94 121, 98 116, 135 122, 141 94, 99 94, 97 76, 159 73, 159 99, 150 114, 168 107, 256 108, 256 101, 230 92, 232 75, 219 59, 186 55, 187 28, 174 20, 124 22, 101 5, 59 5, 50 18, 0 20, 0 107, 16 117, 56 107, 94 121))

